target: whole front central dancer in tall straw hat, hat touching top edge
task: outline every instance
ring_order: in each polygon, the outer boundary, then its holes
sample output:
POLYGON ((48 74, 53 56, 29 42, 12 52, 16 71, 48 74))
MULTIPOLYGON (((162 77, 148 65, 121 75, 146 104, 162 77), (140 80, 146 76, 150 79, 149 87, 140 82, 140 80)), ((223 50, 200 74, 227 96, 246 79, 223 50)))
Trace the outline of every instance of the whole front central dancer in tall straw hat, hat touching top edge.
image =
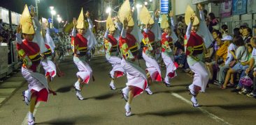
POLYGON ((126 0, 120 10, 119 19, 123 24, 122 33, 119 40, 120 52, 122 54, 121 65, 127 73, 127 87, 121 90, 122 95, 127 101, 125 105, 125 115, 128 117, 131 115, 131 101, 134 97, 141 94, 145 88, 148 87, 147 76, 143 69, 135 64, 138 54, 138 42, 134 35, 131 35, 131 31, 134 27, 134 20, 131 17, 131 7, 129 0, 126 0))

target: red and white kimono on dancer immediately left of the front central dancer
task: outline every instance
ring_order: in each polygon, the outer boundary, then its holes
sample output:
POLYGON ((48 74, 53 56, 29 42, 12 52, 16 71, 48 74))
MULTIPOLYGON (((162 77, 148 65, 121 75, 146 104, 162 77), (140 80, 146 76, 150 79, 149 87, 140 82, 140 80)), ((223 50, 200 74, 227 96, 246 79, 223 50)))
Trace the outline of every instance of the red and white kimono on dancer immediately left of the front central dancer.
POLYGON ((111 78, 124 76, 125 69, 122 68, 121 58, 118 57, 118 40, 116 40, 112 35, 107 35, 107 38, 104 40, 104 47, 106 52, 106 60, 108 63, 111 63, 113 69, 109 73, 111 78))

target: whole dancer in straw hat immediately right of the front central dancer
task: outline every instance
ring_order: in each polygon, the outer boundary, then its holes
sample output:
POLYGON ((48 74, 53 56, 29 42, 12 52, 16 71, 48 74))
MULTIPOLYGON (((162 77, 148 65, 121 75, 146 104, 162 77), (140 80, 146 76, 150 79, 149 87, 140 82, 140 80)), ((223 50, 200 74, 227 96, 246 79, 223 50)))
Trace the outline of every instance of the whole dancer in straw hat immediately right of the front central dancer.
MULTIPOLYGON (((161 69, 157 63, 157 60, 154 58, 154 51, 156 49, 155 46, 157 44, 155 42, 155 33, 150 30, 155 22, 145 6, 143 6, 141 9, 139 17, 144 25, 142 40, 144 47, 142 57, 145 60, 145 65, 147 66, 145 73, 148 76, 148 83, 151 83, 152 81, 162 81, 161 69)), ((147 94, 153 94, 149 86, 145 89, 145 92, 147 92, 147 94)))

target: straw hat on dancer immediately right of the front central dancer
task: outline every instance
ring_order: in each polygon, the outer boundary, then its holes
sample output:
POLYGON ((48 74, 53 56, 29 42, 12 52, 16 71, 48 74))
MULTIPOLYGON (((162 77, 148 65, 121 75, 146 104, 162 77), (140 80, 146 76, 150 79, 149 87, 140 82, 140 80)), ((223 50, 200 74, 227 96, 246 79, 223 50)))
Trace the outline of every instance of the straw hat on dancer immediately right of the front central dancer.
POLYGON ((150 12, 148 11, 148 9, 143 6, 143 8, 141 9, 141 12, 139 13, 139 19, 141 20, 142 24, 154 24, 154 20, 152 19, 150 12))

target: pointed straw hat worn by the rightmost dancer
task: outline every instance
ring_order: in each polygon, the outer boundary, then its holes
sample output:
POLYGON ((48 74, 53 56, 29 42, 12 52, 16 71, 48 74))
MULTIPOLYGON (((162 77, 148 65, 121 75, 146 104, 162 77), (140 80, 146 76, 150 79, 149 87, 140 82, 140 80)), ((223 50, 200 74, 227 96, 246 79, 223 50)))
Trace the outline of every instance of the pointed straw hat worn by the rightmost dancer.
POLYGON ((190 18, 194 16, 194 22, 192 24, 192 26, 197 26, 199 24, 199 19, 196 16, 196 13, 194 12, 194 10, 191 8, 191 6, 187 6, 187 10, 185 12, 185 23, 187 24, 187 26, 190 24, 190 18))

